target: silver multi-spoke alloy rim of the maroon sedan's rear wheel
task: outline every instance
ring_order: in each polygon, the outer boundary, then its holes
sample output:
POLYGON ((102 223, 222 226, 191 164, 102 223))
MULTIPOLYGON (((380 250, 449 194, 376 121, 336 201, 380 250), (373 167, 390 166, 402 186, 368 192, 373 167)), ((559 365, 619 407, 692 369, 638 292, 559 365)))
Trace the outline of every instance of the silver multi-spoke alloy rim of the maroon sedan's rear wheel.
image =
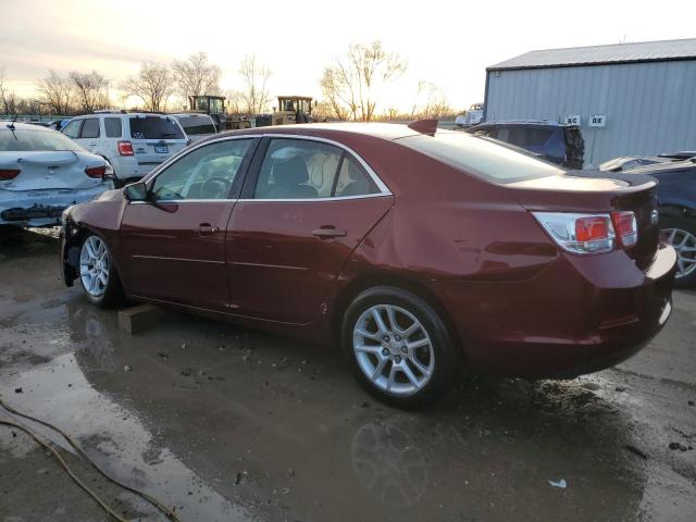
POLYGON ((394 304, 368 308, 353 327, 360 370, 377 388, 412 396, 433 376, 435 352, 427 331, 408 310, 394 304))

